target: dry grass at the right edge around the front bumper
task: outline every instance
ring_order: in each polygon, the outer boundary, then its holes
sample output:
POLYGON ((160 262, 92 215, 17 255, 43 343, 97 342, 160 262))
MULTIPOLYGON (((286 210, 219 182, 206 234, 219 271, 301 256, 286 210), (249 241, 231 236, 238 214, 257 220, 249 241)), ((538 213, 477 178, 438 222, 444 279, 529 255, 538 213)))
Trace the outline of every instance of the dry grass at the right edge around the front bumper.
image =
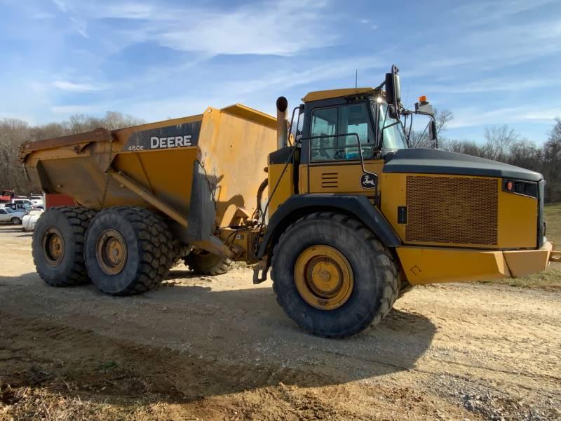
MULTIPOLYGON (((545 208, 547 223, 546 235, 548 240, 555 243, 556 248, 561 248, 561 203, 550 203, 545 208)), ((522 276, 516 279, 496 279, 482 281, 482 283, 502 283, 509 286, 525 288, 561 289, 561 263, 551 263, 544 272, 522 276)))

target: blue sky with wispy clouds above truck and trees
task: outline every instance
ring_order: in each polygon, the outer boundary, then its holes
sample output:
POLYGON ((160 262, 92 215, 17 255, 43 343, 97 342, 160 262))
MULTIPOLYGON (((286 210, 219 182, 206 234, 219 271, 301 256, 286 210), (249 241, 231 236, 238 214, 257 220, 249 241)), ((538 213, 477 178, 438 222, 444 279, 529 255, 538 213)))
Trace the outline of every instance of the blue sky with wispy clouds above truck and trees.
POLYGON ((156 121, 375 86, 454 112, 449 138, 561 116, 561 1, 0 0, 0 118, 120 111, 156 121))

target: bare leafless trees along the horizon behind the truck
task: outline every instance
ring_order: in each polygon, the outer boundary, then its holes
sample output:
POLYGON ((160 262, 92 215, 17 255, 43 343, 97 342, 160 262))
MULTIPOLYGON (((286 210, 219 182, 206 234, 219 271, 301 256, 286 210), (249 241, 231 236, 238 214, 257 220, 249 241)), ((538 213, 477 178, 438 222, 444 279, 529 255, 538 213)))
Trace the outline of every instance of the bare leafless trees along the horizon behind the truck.
MULTIPOLYGON (((536 145, 516 133, 508 125, 485 128, 485 142, 445 138, 447 123, 454 119, 449 110, 435 112, 439 133, 439 148, 509 163, 542 173, 547 180, 546 201, 561 201, 561 119, 555 119, 548 139, 536 145)), ((19 148, 27 140, 57 138, 90 131, 97 127, 109 130, 136 126, 144 121, 120 112, 107 112, 97 118, 83 114, 71 116, 61 123, 30 125, 20 119, 0 119, 0 190, 12 189, 18 194, 39 192, 40 187, 31 185, 18 161, 19 148)), ((411 147, 431 147, 425 132, 411 131, 411 147)))

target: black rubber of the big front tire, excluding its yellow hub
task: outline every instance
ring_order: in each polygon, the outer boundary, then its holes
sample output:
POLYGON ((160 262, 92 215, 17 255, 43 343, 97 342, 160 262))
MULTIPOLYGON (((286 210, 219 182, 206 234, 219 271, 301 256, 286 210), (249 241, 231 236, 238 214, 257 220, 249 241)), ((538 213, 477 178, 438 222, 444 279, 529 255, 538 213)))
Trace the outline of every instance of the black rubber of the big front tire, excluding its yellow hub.
POLYGON ((340 213, 312 213, 290 225, 273 249, 271 267, 280 307, 300 327, 325 338, 345 338, 376 325, 399 294, 398 267, 389 250, 361 222, 340 213), (316 245, 339 250, 353 270, 351 296, 337 309, 312 307, 295 284, 297 258, 316 245))

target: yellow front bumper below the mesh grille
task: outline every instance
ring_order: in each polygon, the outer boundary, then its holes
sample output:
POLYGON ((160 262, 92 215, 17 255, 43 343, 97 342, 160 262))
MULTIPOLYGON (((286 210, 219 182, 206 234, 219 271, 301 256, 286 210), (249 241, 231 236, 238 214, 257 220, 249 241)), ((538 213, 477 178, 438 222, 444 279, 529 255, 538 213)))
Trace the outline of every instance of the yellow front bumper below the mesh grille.
POLYGON ((518 278, 561 261, 561 250, 545 241, 537 250, 485 251, 461 248, 400 246, 403 273, 412 285, 518 278))

